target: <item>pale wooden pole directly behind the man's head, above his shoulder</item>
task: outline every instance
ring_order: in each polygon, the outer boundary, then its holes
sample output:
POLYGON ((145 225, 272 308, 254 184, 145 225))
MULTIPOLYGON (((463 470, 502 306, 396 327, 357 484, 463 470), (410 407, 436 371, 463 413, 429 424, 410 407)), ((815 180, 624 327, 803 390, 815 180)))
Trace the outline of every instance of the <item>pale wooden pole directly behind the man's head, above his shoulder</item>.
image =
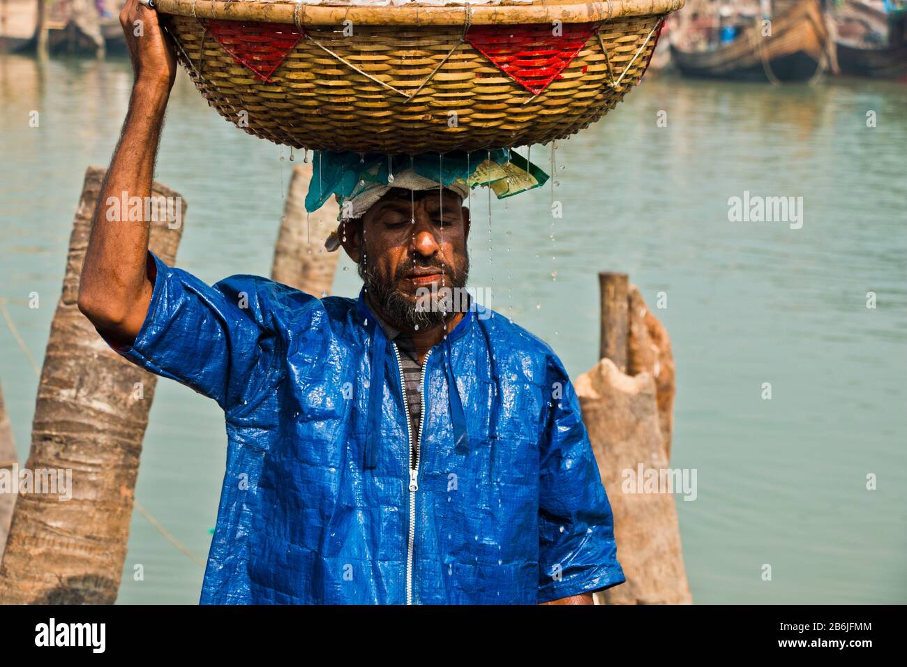
POLYGON ((340 255, 339 251, 325 250, 327 235, 336 229, 337 205, 328 200, 306 219, 306 191, 311 178, 310 163, 297 164, 293 169, 274 246, 271 278, 320 298, 331 292, 340 255))

